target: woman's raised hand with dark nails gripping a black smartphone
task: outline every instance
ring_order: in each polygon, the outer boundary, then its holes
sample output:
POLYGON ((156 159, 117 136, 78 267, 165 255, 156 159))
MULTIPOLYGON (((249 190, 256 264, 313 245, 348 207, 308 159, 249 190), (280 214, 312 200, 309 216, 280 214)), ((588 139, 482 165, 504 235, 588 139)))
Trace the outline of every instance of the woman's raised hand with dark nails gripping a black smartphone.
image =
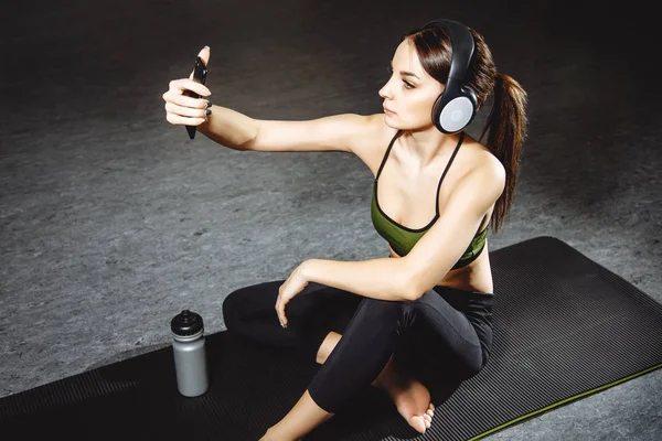
POLYGON ((207 120, 212 103, 206 99, 212 92, 204 85, 206 66, 210 61, 210 47, 204 46, 197 57, 189 78, 173 79, 168 92, 163 94, 166 101, 166 120, 171 125, 186 126, 189 138, 195 137, 195 128, 207 120))

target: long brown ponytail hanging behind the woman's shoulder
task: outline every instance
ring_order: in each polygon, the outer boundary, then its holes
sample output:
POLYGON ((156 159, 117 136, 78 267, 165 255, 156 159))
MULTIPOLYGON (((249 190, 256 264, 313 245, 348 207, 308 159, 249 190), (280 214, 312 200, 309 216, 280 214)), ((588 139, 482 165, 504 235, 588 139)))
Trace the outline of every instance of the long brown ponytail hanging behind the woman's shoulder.
POLYGON ((505 169, 505 187, 494 204, 491 224, 496 233, 510 214, 515 192, 522 144, 526 138, 526 92, 512 77, 496 73, 494 103, 479 142, 488 133, 487 147, 505 169))

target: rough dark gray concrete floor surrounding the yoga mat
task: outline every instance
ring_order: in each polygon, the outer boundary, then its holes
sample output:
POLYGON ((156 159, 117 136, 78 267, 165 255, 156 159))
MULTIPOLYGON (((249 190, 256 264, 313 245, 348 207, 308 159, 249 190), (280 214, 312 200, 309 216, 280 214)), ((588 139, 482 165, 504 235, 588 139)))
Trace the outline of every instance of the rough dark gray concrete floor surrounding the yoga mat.
MULTIPOLYGON (((512 214, 491 249, 554 236, 662 301, 662 109, 645 9, 36 3, 8 6, 0 26, 0 396, 168 345, 184 308, 224 330, 227 293, 307 258, 385 255, 356 158, 242 153, 166 121, 161 95, 204 44, 215 104, 312 119, 381 111, 408 29, 442 17, 478 29, 531 101, 512 214)), ((660 440, 661 385, 653 372, 485 439, 660 440)))

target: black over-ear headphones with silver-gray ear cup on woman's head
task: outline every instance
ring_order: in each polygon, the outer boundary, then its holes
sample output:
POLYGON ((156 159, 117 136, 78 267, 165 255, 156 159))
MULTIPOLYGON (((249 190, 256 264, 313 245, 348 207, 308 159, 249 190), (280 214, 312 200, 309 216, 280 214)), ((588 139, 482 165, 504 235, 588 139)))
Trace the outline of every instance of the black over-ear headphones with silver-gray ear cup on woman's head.
POLYGON ((433 106, 433 122, 444 133, 463 130, 476 117, 476 92, 462 84, 473 57, 476 43, 467 26, 453 20, 436 20, 423 29, 438 26, 446 31, 452 46, 452 60, 446 88, 433 106))

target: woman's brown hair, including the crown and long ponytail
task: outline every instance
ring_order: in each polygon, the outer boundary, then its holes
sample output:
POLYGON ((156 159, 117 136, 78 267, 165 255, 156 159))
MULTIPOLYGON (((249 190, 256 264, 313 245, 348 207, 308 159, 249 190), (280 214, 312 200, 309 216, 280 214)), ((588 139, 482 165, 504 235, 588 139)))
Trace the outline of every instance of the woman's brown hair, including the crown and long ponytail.
MULTIPOLYGON (((492 230, 498 232, 510 213, 515 192, 522 144, 526 138, 526 92, 512 77, 496 73, 492 53, 482 35, 472 29, 469 31, 473 35, 476 50, 465 84, 476 90, 478 109, 485 103, 490 92, 494 93, 492 109, 479 142, 489 131, 485 146, 505 169, 505 189, 494 204, 490 220, 492 230)), ((450 37, 446 31, 438 26, 415 29, 402 36, 402 41, 405 40, 414 43, 425 72, 446 85, 452 56, 450 37)))

